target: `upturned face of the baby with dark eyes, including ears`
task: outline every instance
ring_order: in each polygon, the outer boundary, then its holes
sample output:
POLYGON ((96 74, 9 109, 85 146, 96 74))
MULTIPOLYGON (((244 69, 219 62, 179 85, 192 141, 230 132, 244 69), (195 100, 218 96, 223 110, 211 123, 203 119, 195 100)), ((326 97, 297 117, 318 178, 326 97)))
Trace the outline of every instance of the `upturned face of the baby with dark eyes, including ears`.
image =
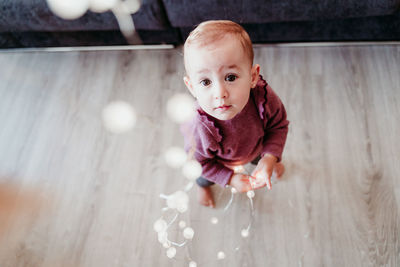
POLYGON ((211 45, 189 46, 185 59, 185 84, 206 113, 230 120, 242 111, 260 67, 251 66, 239 40, 228 35, 211 45))

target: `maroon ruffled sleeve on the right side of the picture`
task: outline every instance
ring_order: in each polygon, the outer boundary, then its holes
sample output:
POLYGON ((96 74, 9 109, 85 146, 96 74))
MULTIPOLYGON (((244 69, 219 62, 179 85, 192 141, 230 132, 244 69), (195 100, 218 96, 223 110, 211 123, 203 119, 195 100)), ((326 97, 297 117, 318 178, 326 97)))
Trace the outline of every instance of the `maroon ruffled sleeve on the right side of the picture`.
POLYGON ((271 154, 277 157, 279 162, 282 159, 289 125, 285 107, 261 75, 257 86, 252 89, 252 94, 264 127, 261 156, 271 154))

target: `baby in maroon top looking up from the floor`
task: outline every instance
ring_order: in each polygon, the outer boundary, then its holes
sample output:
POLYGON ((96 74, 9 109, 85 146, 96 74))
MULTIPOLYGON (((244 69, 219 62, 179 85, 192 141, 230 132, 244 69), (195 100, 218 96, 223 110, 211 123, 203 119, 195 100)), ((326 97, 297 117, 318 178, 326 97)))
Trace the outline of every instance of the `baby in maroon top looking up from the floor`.
POLYGON ((199 202, 214 207, 210 186, 239 192, 267 186, 284 172, 281 157, 289 121, 279 97, 253 65, 247 32, 232 21, 206 21, 186 39, 184 82, 197 100, 195 118, 182 125, 185 149, 202 165, 199 202), (258 162, 257 162, 258 161, 258 162), (234 167, 257 164, 251 175, 234 167))

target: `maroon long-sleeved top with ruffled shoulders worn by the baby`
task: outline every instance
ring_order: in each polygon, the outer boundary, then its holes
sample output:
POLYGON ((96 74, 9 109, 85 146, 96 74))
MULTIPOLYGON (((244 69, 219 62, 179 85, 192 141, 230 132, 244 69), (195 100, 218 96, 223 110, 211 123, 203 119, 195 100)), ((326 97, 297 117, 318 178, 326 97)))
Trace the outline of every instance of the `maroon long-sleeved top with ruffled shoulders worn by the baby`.
POLYGON ((257 156, 282 158, 289 121, 279 97, 260 75, 243 110, 230 120, 218 120, 199 106, 195 118, 182 125, 185 150, 194 149, 202 176, 221 186, 229 183, 233 170, 257 156))

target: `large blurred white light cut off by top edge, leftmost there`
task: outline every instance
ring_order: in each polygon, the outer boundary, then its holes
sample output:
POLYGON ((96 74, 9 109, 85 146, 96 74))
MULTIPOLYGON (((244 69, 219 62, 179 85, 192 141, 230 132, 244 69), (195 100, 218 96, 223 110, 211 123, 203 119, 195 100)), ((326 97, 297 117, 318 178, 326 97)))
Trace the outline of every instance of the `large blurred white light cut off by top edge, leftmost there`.
POLYGON ((88 0, 47 0, 50 10, 63 19, 77 19, 89 8, 88 0))

